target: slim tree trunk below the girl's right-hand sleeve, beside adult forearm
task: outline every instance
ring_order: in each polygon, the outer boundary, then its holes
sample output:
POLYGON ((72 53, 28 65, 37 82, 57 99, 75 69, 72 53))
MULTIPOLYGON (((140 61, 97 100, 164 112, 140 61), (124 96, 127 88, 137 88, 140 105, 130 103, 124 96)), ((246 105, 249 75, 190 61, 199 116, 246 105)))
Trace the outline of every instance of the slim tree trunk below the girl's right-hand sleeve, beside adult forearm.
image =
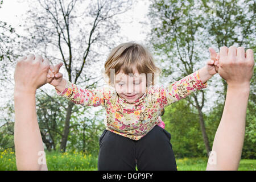
POLYGON ((209 144, 208 136, 207 136, 207 133, 206 133, 206 130, 205 130, 203 112, 202 112, 201 107, 199 106, 199 102, 197 101, 196 96, 194 98, 195 98, 195 101, 196 101, 196 109, 199 113, 199 122, 200 122, 200 126, 201 126, 201 131, 202 131, 202 134, 203 134, 205 149, 207 151, 207 155, 209 155, 209 152, 211 150, 210 150, 210 144, 209 144))

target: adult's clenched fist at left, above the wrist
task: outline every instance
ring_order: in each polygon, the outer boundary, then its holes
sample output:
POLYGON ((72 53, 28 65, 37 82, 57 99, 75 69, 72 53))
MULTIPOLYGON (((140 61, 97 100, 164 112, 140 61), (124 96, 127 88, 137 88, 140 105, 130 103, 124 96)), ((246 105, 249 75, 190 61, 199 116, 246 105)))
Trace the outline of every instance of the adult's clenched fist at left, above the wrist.
POLYGON ((18 60, 14 72, 15 91, 35 93, 47 83, 49 60, 30 54, 18 60))

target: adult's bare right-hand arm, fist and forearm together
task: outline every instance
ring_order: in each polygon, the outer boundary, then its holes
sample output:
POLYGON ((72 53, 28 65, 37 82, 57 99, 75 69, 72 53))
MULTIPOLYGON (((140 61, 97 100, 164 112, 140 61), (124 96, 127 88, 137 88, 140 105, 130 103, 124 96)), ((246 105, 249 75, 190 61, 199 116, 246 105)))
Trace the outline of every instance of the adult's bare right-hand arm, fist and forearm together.
POLYGON ((222 47, 218 73, 228 84, 220 125, 213 141, 207 170, 237 170, 245 137, 246 108, 253 76, 253 51, 222 47), (245 57, 246 56, 246 57, 245 57))

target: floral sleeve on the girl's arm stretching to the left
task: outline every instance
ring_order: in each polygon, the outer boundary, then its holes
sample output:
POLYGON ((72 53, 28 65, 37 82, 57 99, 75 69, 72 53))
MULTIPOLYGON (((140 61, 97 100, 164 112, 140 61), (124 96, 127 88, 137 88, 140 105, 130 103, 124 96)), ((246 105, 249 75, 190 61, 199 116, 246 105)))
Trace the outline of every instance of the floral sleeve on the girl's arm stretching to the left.
POLYGON ((104 106, 110 98, 110 89, 108 87, 82 89, 80 86, 72 84, 68 80, 63 92, 59 92, 57 89, 55 90, 58 96, 63 96, 69 101, 83 106, 104 106))

